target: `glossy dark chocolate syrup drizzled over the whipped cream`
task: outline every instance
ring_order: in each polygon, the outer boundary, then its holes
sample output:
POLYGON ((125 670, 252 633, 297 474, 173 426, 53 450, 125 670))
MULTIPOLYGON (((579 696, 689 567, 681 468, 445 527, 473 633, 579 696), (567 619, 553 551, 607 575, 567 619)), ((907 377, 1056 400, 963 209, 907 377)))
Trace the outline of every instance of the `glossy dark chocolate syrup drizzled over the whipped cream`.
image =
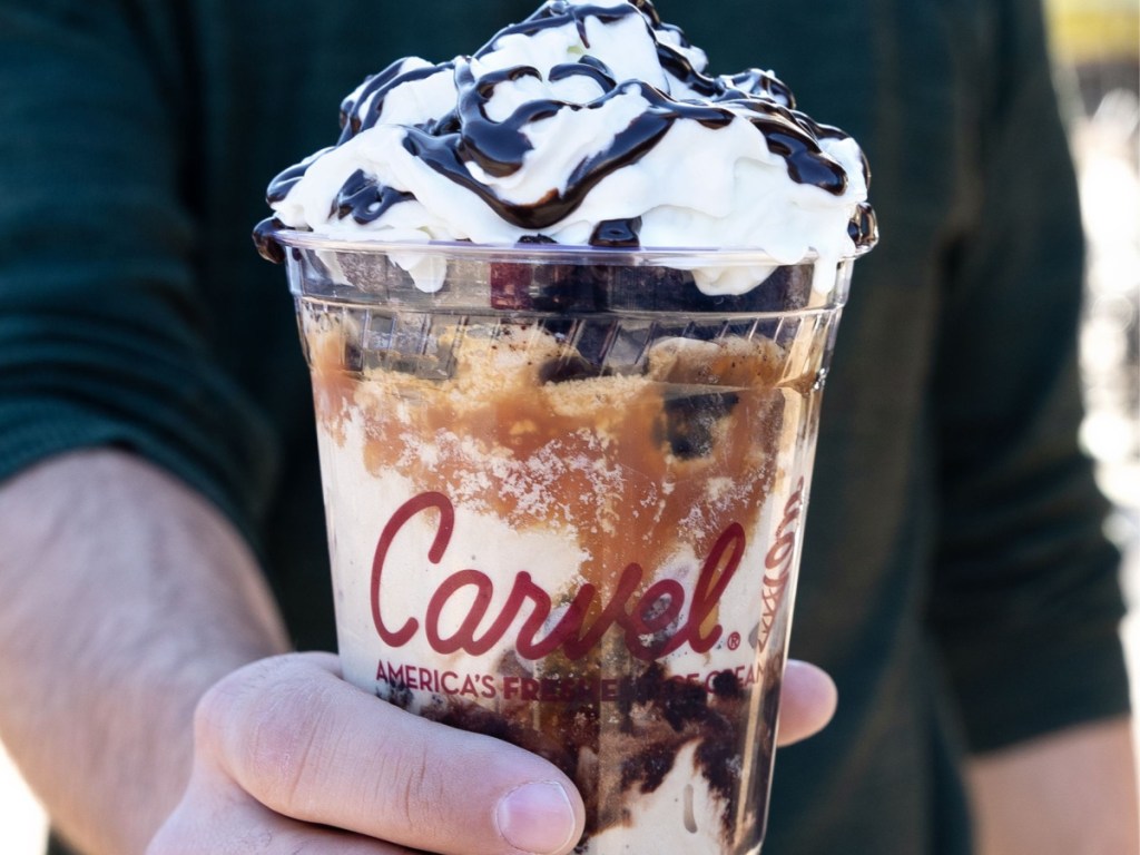
MULTIPOLYGON (((650 0, 636 0, 629 6, 620 7, 575 6, 564 0, 552 0, 526 21, 500 31, 474 57, 492 52, 503 36, 534 36, 544 30, 568 24, 576 26, 588 48, 588 18, 596 18, 604 24, 630 16, 638 16, 646 26, 658 32, 671 33, 682 47, 691 47, 681 30, 661 23, 650 0)), ((676 100, 641 81, 618 81, 604 63, 587 56, 578 63, 555 66, 549 79, 557 81, 573 75, 586 76, 602 90, 600 98, 588 104, 538 99, 522 105, 504 121, 495 121, 487 114, 487 104, 494 97, 496 88, 526 76, 539 76, 536 68, 515 66, 484 74, 477 80, 470 59, 457 58, 410 71, 402 71, 406 60, 399 60, 369 78, 355 93, 355 98, 347 98, 341 105, 342 130, 337 145, 374 127, 380 120, 385 98, 396 88, 435 74, 451 73, 458 92, 456 109, 439 119, 407 127, 404 147, 438 173, 474 193, 503 220, 521 229, 542 231, 565 218, 602 179, 651 150, 677 120, 695 121, 716 129, 727 125, 734 117, 743 116, 764 135, 769 150, 784 160, 788 174, 793 181, 814 185, 836 196, 846 192, 847 176, 842 168, 819 145, 822 138, 844 138, 845 135, 838 129, 817 124, 797 111, 791 91, 772 74, 750 70, 712 78, 699 72, 683 50, 663 40, 658 40, 657 50, 668 74, 709 101, 708 104, 676 100), (648 101, 645 111, 619 131, 608 148, 579 163, 571 172, 565 189, 561 192, 552 189, 542 199, 530 204, 507 202, 469 169, 469 164, 474 164, 489 176, 510 176, 522 168, 527 153, 531 150, 532 146, 524 133, 529 125, 563 109, 600 109, 611 99, 630 93, 637 93, 648 101)), ((277 176, 267 192, 270 204, 284 199, 318 156, 319 154, 277 176)), ((869 178, 865 160, 864 173, 869 178)), ((393 205, 413 198, 415 197, 410 193, 383 187, 375 179, 357 171, 337 194, 331 215, 339 219, 352 217, 357 222, 366 223, 377 219, 393 205)), ((870 239, 866 220, 868 214, 864 212, 857 214, 850 227, 852 234, 870 239)), ((591 243, 636 247, 640 245, 640 225, 626 221, 618 229, 613 222, 602 223, 595 229, 591 243)), ((282 254, 279 247, 269 245, 274 242, 274 231, 271 220, 259 223, 254 231, 254 241, 261 254, 270 260, 282 254)))

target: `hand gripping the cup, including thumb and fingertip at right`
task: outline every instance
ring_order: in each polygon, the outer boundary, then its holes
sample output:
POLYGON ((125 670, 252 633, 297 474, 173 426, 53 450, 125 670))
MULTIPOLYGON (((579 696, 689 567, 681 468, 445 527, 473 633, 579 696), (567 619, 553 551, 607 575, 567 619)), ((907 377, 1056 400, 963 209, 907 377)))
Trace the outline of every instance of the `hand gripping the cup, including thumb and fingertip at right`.
MULTIPOLYGON (((822 727, 834 689, 789 662, 781 744, 822 727)), ((147 855, 565 855, 571 781, 490 736, 418 718, 342 681, 335 657, 242 668, 198 707, 186 793, 147 855)))

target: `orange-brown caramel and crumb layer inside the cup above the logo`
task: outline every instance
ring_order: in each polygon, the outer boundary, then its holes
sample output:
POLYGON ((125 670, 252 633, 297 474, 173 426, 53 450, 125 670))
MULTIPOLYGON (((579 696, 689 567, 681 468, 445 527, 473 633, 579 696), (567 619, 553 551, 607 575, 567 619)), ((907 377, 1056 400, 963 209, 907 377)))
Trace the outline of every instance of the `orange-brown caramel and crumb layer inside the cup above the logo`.
POLYGON ((456 375, 435 381, 348 370, 339 334, 310 336, 324 427, 340 438, 356 412, 370 472, 394 470, 516 529, 571 534, 587 556, 583 578, 603 593, 630 562, 650 572, 648 587, 678 540, 703 555, 728 523, 752 530, 788 393, 772 342, 666 340, 645 376, 563 383, 540 380, 565 358, 540 331, 448 344, 456 375), (479 382, 484 374, 492 380, 479 382))

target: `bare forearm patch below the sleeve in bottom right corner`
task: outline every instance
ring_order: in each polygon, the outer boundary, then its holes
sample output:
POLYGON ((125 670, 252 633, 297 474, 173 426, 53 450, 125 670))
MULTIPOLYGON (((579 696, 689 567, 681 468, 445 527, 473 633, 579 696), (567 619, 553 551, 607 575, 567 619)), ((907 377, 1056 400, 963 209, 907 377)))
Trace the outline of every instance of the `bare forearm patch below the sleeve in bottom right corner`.
POLYGON ((1131 723, 1113 719, 977 758, 979 855, 1140 852, 1133 757, 1131 723))

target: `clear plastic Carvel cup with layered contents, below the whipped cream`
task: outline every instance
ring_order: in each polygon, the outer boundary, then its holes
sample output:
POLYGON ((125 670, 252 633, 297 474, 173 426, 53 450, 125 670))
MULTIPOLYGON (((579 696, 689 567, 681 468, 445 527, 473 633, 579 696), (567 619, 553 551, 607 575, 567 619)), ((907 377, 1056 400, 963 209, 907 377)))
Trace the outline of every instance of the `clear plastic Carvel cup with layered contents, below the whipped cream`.
POLYGON ((759 852, 853 259, 279 237, 345 678, 560 766, 577 852, 759 852))

